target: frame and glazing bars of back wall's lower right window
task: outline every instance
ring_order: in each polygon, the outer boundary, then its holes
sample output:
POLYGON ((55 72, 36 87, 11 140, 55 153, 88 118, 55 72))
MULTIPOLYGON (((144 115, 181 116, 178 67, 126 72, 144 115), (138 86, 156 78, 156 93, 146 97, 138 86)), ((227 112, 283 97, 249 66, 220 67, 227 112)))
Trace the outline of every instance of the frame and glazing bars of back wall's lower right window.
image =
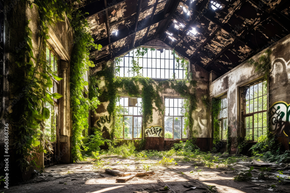
MULTIPOLYGON (((184 109, 184 107, 183 107, 183 105, 184 105, 184 100, 186 100, 186 98, 182 98, 182 97, 179 97, 179 96, 167 96, 167 97, 164 97, 164 107, 165 107, 165 109, 166 109, 166 106, 165 106, 165 104, 166 104, 166 102, 165 102, 165 100, 166 99, 183 99, 183 101, 182 101, 182 110, 184 109)), ((173 102, 174 102, 174 100, 173 100, 173 102)), ((174 105, 174 104, 173 104, 174 105)), ((167 108, 180 108, 180 107, 178 107, 178 105, 177 105, 177 107, 170 107, 170 104, 169 104, 169 106, 167 107, 167 108)), ((174 111, 174 109, 173 109, 173 111, 174 111)), ((165 110, 165 112, 166 112, 166 110, 165 110)), ((183 121, 184 121, 184 118, 187 118, 186 116, 184 116, 184 115, 164 115, 164 139, 165 140, 183 140, 183 139, 189 139, 189 128, 187 127, 186 128, 186 138, 182 138, 182 133, 183 133, 183 126, 184 125, 182 125, 182 123, 183 123, 183 121), (173 117, 173 122, 172 122, 172 138, 165 138, 165 118, 166 117, 173 117), (180 130, 180 136, 181 136, 181 138, 178 138, 178 139, 174 139, 174 120, 175 120, 175 118, 176 117, 181 117, 181 130, 180 130)))

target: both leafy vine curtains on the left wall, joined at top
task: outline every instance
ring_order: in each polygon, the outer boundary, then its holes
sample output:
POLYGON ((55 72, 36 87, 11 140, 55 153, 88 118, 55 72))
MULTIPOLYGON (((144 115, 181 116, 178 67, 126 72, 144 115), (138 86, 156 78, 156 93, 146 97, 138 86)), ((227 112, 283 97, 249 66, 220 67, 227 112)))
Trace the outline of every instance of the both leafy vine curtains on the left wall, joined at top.
MULTIPOLYGON (((36 166, 37 158, 46 152, 44 146, 48 147, 49 138, 43 132, 44 121, 50 117, 50 110, 46 104, 54 105, 52 98, 61 98, 58 93, 51 93, 52 81, 61 78, 52 71, 52 66, 46 61, 45 48, 48 39, 49 26, 55 26, 58 21, 64 21, 65 14, 74 30, 75 46, 73 48, 70 88, 71 88, 71 111, 73 121, 72 133, 72 155, 73 160, 80 159, 80 145, 82 131, 87 128, 88 109, 99 104, 96 96, 88 101, 83 97, 82 90, 88 82, 84 81, 82 75, 88 66, 93 66, 89 61, 89 49, 94 47, 100 49, 101 45, 94 45, 90 33, 87 32, 87 22, 77 11, 73 3, 66 4, 57 0, 21 0, 26 3, 32 11, 37 10, 39 14, 39 27, 33 32, 38 38, 38 45, 32 45, 32 31, 30 20, 25 26, 24 39, 26 44, 22 49, 16 49, 14 55, 16 69, 11 72, 8 81, 13 86, 12 95, 14 99, 10 102, 11 112, 8 115, 11 125, 15 128, 14 143, 19 155, 21 170, 29 166, 36 166), (36 52, 36 54, 35 54, 36 52), (19 96, 19 97, 18 97, 19 96), (16 102, 15 102, 16 101, 16 102)), ((34 21, 35 22, 35 21, 34 21)), ((33 24, 34 25, 34 24, 33 24)))

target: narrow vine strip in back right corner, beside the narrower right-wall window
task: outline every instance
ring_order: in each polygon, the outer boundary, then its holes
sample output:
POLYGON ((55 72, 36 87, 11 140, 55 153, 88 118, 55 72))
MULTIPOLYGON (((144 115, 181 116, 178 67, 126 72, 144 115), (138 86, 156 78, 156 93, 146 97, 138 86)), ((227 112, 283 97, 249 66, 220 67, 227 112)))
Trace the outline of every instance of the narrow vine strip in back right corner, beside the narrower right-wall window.
POLYGON ((213 98, 211 104, 213 111, 213 144, 217 144, 220 142, 220 121, 218 120, 218 114, 220 113, 222 102, 220 98, 213 98))

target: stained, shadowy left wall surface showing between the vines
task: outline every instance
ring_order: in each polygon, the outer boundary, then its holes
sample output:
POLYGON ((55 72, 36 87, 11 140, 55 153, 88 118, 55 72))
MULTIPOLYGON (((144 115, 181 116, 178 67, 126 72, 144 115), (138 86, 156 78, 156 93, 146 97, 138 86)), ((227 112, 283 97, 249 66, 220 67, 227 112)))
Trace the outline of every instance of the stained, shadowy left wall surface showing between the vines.
MULTIPOLYGON (((27 21, 29 22, 29 27, 32 31, 32 46, 33 46, 33 54, 36 57, 39 52, 39 47, 42 48, 42 50, 45 49, 43 42, 40 43, 40 37, 38 35, 39 30, 39 15, 37 11, 37 6, 33 6, 32 9, 30 9, 29 5, 26 2, 23 1, 15 1, 12 4, 7 4, 5 7, 5 23, 4 23, 4 37, 5 37, 5 48, 4 48, 4 68, 2 71, 2 78, 3 78, 3 84, 1 85, 3 87, 3 95, 1 99, 1 105, 4 112, 4 118, 0 122, 1 128, 4 128, 4 124, 9 124, 9 161, 10 163, 16 162, 16 160, 19 158, 16 154, 16 151, 18 150, 18 145, 13 145, 15 143, 14 139, 14 131, 16 128, 13 127, 13 124, 8 120, 7 115, 12 113, 12 101, 15 103, 19 102, 20 99, 23 97, 23 94, 25 93, 25 88, 23 88, 23 93, 20 93, 19 96, 14 96, 12 94, 12 91, 14 91, 14 85, 10 83, 10 80, 17 79, 19 76, 22 76, 24 73, 26 73, 25 69, 19 70, 19 67, 17 67, 17 64, 15 63, 15 60, 17 58, 17 50, 22 49, 26 43, 27 39, 25 38, 25 25, 27 24, 27 21), (11 7, 11 5, 13 7, 11 7)), ((68 23, 67 21, 61 24, 57 23, 56 27, 51 28, 56 33, 58 33, 55 37, 55 40, 57 41, 57 44, 52 44, 51 46, 61 46, 62 51, 66 52, 67 55, 70 56, 71 49, 72 49, 72 41, 73 41, 73 34, 68 33, 70 30, 68 29, 68 23), (64 24, 66 23, 66 24, 64 24), (59 29, 60 28, 60 29, 59 29), (66 32, 66 33, 63 33, 66 32), (61 39, 58 39, 61 37, 61 39)), ((69 87, 69 60, 64 61, 60 60, 59 65, 61 66, 61 75, 60 77, 63 78, 63 80, 60 81, 60 93, 64 95, 63 98, 59 99, 59 104, 62 108, 62 112, 59 114, 59 118, 62 121, 62 129, 66 130, 68 133, 71 129, 71 123, 70 123, 70 87, 69 87)), ((61 125, 61 124, 60 124, 61 125)), ((60 126, 59 125, 59 126, 60 126)), ((3 129, 4 131, 4 129, 3 129)), ((2 135, 2 129, 0 131, 0 149, 3 150, 3 141, 4 137, 2 135)), ((59 130, 58 130, 59 132, 59 130)), ((57 136, 59 136, 59 133, 57 133, 57 136)), ((58 154, 57 159, 60 160, 67 160, 67 163, 70 162, 70 135, 68 135, 69 139, 66 141, 68 144, 66 150, 61 152, 61 155, 58 154)), ((22 141, 25 143, 25 139, 22 141)), ((19 144, 21 145, 21 144, 19 144)), ((4 150, 2 151, 4 152, 4 150)), ((37 161, 37 165, 43 166, 44 159, 43 154, 40 155, 37 161)), ((21 170, 18 166, 15 165, 15 167, 9 168, 9 172, 13 174, 13 176, 9 176, 9 181, 12 183, 19 182, 23 179, 30 178, 31 172, 35 170, 35 168, 30 168, 26 174, 21 174, 21 170)), ((1 172, 0 172, 1 173, 1 172)))

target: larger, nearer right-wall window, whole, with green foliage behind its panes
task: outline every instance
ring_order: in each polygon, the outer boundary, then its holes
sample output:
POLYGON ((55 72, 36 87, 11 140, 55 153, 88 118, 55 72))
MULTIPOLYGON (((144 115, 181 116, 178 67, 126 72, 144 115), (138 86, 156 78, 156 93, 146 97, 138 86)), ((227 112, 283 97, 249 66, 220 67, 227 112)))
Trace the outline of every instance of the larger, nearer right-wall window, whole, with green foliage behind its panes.
POLYGON ((244 100, 245 139, 258 141, 260 136, 267 134, 266 81, 246 87, 244 100))

